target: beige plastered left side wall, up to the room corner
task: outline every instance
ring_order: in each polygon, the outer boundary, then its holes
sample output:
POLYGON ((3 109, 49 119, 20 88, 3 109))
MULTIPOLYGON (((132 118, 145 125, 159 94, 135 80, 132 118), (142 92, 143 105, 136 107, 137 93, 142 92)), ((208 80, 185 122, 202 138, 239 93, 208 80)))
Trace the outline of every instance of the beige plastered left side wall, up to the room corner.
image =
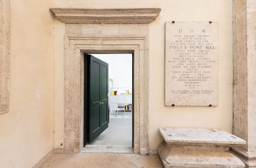
POLYGON ((32 167, 53 149, 51 0, 11 0, 10 107, 0 115, 0 167, 32 167))

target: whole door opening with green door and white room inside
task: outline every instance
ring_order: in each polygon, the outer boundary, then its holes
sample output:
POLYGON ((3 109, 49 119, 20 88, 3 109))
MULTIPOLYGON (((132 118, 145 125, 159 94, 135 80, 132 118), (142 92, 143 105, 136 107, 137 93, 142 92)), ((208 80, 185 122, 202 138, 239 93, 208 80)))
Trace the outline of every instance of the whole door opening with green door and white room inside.
POLYGON ((133 54, 84 60, 84 149, 133 152, 133 54))

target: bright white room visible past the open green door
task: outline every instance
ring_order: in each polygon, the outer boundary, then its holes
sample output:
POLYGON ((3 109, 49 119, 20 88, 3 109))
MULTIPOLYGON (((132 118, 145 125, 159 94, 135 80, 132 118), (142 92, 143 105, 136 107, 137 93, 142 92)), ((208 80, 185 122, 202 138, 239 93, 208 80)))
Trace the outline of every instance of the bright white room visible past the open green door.
MULTIPOLYGON (((133 54, 90 54, 108 64, 108 127, 86 144, 133 146, 133 54)), ((96 60, 97 61, 97 60, 96 60)), ((102 64, 103 64, 102 63, 102 64)), ((103 71, 103 70, 102 70, 103 71)), ((102 74, 103 72, 100 72, 102 74)), ((92 80, 90 78, 90 80, 92 80)), ((92 89, 91 89, 91 92, 92 89)), ((93 112, 94 113, 94 112, 93 112)), ((89 117, 90 118, 90 117, 89 117)), ((89 126, 90 127, 90 126, 89 126)))

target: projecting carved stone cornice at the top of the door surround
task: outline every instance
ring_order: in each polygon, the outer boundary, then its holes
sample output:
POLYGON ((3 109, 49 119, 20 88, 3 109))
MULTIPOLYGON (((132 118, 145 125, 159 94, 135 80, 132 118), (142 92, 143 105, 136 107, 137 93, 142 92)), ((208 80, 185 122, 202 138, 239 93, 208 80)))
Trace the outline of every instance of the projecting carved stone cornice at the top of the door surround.
POLYGON ((151 23, 159 15, 159 8, 134 9, 64 9, 51 8, 55 16, 63 23, 79 24, 127 24, 151 23))

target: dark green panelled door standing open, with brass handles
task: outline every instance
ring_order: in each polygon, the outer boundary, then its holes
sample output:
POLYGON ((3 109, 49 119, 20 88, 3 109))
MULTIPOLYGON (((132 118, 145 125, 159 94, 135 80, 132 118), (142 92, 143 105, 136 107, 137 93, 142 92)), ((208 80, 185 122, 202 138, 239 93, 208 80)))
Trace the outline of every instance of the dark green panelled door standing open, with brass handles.
POLYGON ((92 55, 89 85, 89 143, 109 126, 109 65, 92 55))

